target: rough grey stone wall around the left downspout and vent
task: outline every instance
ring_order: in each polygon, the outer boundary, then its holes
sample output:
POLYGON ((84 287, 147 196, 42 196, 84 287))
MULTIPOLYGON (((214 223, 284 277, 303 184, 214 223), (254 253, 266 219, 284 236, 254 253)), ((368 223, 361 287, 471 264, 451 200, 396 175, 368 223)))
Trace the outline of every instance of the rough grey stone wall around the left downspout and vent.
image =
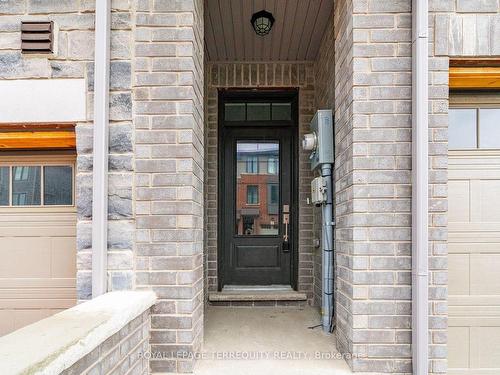
MULTIPOLYGON (((129 1, 113 0, 109 136, 109 290, 133 285, 131 14, 129 1)), ((76 124, 77 290, 89 299, 91 283, 92 119, 95 1, 0 2, 0 79, 87 81, 87 119, 76 124), (21 54, 21 21, 54 21, 55 55, 21 54)))

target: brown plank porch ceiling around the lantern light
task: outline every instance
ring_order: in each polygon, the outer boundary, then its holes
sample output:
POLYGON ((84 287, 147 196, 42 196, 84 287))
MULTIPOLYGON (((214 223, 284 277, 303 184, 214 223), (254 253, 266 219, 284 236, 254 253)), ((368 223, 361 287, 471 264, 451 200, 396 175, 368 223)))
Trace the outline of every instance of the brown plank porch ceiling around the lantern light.
POLYGON ((314 60, 332 8, 333 0, 205 0, 208 60, 314 60), (262 9, 276 19, 264 37, 250 24, 262 9))

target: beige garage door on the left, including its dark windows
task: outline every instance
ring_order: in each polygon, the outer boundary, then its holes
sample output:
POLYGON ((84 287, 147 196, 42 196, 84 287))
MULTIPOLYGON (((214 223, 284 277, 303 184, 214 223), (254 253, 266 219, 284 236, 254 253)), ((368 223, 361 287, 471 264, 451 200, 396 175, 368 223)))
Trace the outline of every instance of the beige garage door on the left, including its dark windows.
POLYGON ((0 158, 0 335, 76 303, 74 158, 0 158))

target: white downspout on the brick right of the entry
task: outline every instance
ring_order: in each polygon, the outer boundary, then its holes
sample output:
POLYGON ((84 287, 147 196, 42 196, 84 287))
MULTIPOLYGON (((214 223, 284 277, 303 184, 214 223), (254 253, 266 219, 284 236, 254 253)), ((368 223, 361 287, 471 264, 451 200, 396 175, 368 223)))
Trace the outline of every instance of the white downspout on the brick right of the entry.
POLYGON ((412 4, 412 360, 413 373, 428 373, 428 0, 412 4))

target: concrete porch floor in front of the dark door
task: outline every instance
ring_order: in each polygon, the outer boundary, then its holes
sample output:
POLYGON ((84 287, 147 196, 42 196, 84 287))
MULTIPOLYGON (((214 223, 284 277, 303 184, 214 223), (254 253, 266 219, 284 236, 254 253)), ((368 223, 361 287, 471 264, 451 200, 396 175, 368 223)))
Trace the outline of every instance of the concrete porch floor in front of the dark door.
POLYGON ((332 358, 338 353, 335 336, 308 328, 319 322, 311 307, 209 307, 205 358, 197 361, 194 374, 352 374, 343 359, 332 358))

